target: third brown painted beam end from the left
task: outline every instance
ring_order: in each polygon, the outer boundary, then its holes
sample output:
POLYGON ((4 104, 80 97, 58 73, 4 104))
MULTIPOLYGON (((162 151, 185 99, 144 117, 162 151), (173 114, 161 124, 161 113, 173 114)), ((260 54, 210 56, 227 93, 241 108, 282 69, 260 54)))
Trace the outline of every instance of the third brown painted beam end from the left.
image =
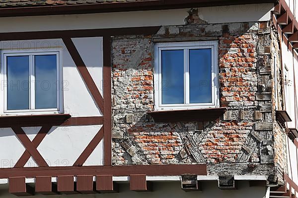
POLYGON ((74 185, 73 175, 58 176, 57 180, 58 192, 67 195, 77 194, 77 192, 75 191, 76 186, 74 185))

